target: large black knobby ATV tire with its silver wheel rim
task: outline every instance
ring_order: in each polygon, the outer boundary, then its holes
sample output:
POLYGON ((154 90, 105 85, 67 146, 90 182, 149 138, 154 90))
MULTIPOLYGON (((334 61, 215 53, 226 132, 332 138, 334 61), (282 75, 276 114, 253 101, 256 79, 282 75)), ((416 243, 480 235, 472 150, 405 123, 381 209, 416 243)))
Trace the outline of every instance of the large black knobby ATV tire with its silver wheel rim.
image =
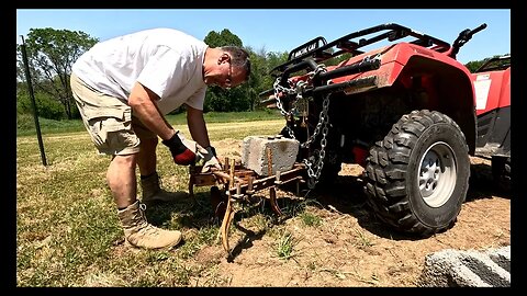
POLYGON ((468 146, 456 122, 439 112, 413 111, 370 149, 365 192, 381 220, 428 237, 453 226, 469 177, 468 146))

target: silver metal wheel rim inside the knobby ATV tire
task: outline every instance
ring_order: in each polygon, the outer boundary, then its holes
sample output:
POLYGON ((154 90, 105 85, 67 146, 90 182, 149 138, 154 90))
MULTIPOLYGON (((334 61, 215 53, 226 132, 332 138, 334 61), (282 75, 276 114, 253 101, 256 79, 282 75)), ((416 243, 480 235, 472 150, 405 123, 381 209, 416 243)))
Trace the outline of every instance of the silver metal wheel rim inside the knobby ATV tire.
POLYGON ((456 158, 452 148, 438 141, 423 155, 418 186, 423 201, 431 207, 442 206, 456 186, 456 158))

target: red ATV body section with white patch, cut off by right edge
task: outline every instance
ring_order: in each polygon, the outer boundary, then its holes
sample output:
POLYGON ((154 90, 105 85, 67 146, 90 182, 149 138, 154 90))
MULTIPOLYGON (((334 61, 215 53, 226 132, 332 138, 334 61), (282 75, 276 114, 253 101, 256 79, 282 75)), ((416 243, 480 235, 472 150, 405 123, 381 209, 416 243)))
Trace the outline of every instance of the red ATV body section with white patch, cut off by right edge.
POLYGON ((478 116, 475 155, 492 159, 500 190, 511 190, 511 55, 493 57, 474 73, 478 116))

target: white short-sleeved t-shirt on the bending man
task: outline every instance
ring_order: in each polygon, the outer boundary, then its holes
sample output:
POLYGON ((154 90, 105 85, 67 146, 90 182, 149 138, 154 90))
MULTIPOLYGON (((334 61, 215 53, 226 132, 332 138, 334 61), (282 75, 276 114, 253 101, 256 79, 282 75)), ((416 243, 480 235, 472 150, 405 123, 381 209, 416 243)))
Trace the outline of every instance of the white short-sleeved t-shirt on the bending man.
POLYGON ((183 103, 203 110, 206 48, 204 42, 177 30, 146 30, 96 44, 71 71, 96 90, 124 101, 138 81, 159 95, 162 114, 183 103))

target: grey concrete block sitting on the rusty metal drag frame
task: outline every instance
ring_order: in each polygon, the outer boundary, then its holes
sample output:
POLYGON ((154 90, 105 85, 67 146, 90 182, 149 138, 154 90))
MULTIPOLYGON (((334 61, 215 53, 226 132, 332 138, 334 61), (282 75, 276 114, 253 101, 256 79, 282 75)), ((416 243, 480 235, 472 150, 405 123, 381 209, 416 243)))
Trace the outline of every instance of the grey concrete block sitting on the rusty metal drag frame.
POLYGON ((258 175, 269 175, 268 149, 271 153, 271 175, 277 171, 293 168, 299 153, 300 143, 295 139, 278 136, 249 136, 242 147, 242 164, 258 175))

